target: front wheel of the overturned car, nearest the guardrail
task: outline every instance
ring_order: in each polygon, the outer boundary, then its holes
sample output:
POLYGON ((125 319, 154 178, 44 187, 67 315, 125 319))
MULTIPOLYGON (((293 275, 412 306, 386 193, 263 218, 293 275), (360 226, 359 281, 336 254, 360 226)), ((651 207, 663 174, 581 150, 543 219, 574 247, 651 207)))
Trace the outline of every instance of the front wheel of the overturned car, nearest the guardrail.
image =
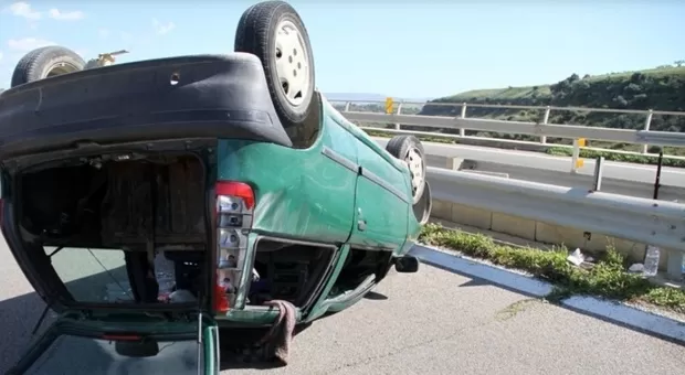
POLYGON ((412 204, 421 201, 425 190, 425 151, 414 136, 396 136, 386 144, 386 151, 409 167, 411 173, 412 204))

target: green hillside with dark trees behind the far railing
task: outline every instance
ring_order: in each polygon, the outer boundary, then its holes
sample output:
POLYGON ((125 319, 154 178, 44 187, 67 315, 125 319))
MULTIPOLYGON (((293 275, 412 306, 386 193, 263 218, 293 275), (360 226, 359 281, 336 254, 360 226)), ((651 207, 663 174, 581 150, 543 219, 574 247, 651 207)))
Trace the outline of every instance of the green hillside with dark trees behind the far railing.
MULTIPOLYGON (((662 66, 637 72, 611 73, 583 77, 572 74, 551 85, 478 89, 435 99, 431 103, 509 104, 524 106, 589 107, 608 109, 653 109, 685 111, 685 66, 662 66)), ((459 106, 426 105, 421 115, 457 116, 459 106)), ((541 109, 494 109, 472 107, 466 116, 503 120, 540 121, 541 109)), ((551 124, 573 124, 590 127, 643 129, 645 115, 588 111, 552 111, 551 124)), ((651 130, 685 130, 685 117, 654 115, 651 130)), ((451 132, 450 130, 443 130, 451 132)), ((476 133, 510 139, 533 139, 526 136, 476 133)), ((561 142, 561 140, 550 140, 561 142)), ((636 149, 635 146, 592 142, 596 147, 636 149)), ((653 148, 653 151, 657 151, 653 148)), ((672 150, 668 150, 672 151, 672 150)), ((672 153, 672 152, 668 152, 672 153)), ((673 152, 675 153, 675 151, 673 152)), ((682 150, 677 153, 683 154, 682 150)))

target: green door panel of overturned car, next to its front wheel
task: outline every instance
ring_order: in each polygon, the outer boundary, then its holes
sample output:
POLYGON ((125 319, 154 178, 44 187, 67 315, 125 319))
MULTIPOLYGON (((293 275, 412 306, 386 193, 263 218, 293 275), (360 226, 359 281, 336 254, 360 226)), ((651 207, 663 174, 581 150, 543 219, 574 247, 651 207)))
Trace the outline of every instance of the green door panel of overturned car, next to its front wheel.
POLYGON ((361 141, 357 142, 357 159, 360 171, 350 244, 360 248, 394 251, 407 238, 411 206, 407 179, 361 141))

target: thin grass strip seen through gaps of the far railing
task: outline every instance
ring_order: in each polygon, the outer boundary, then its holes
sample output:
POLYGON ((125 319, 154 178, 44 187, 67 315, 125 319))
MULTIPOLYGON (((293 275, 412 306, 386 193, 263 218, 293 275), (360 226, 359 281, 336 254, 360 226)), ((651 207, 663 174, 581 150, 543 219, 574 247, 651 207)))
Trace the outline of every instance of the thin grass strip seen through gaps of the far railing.
MULTIPOLYGON (((382 137, 382 138, 392 138, 394 135, 382 131, 382 130, 366 130, 371 137, 382 137)), ((429 137, 429 136, 417 136, 421 141, 424 142, 438 142, 438 143, 457 143, 455 139, 443 138, 443 137, 429 137)), ((535 152, 535 151, 531 151, 535 152)), ((550 147, 545 152, 551 156, 559 157, 570 157, 572 150, 570 148, 565 147, 550 147)), ((630 153, 620 153, 620 152, 611 152, 611 151, 597 151, 589 149, 580 149, 580 157, 584 159, 597 159, 599 157, 604 157, 604 160, 608 161, 620 161, 625 163, 636 163, 636 164, 651 164, 656 165, 658 159, 656 157, 651 156, 642 156, 642 154, 630 154, 630 153)), ((685 168, 685 160, 682 159, 673 159, 668 157, 664 157, 662 161, 663 167, 674 167, 674 168, 685 168)))

